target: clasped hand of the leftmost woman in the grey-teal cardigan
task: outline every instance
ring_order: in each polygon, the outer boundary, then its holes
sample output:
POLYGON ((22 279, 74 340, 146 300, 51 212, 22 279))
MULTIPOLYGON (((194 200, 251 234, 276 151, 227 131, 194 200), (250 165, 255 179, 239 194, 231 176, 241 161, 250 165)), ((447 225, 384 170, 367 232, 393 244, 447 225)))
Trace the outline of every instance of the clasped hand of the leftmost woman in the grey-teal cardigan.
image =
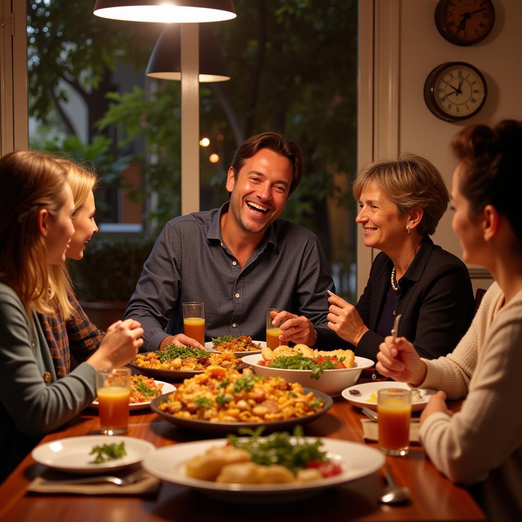
POLYGON ((132 361, 143 345, 143 328, 134 319, 117 321, 108 329, 100 347, 93 353, 87 362, 94 369, 111 370, 132 361))

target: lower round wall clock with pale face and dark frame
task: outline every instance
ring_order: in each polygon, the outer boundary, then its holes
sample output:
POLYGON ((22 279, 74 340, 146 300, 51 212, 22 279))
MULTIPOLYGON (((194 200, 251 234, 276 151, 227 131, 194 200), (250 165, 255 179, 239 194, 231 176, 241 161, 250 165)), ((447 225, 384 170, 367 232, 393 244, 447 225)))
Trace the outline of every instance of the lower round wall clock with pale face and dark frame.
POLYGON ((424 84, 428 109, 446 122, 466 120, 486 101, 488 86, 482 73, 466 62, 447 62, 435 67, 424 84))

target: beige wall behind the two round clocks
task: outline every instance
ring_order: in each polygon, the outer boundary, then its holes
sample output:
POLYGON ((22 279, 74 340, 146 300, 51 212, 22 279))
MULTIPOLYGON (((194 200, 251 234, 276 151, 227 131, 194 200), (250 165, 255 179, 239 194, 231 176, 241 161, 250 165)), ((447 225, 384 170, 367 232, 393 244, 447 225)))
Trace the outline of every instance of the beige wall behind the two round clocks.
MULTIPOLYGON (((361 7, 367 1, 361 0, 361 7)), ((399 111, 398 122, 395 122, 399 135, 398 151, 414 152, 429 158, 442 172, 448 187, 455 167, 448 145, 458 129, 469 123, 492 122, 506 117, 522 118, 522 0, 494 0, 493 3, 496 12, 493 31, 484 41, 462 47, 447 42, 437 31, 434 22, 437 0, 375 0, 376 17, 379 16, 379 6, 389 9, 390 5, 395 5, 398 9, 395 18, 395 23, 399 25, 398 74, 389 79, 390 91, 398 87, 399 111), (430 71, 450 61, 469 62, 476 66, 488 84, 488 99, 480 113, 461 123, 439 120, 428 110, 423 98, 424 81, 430 71)), ((385 31, 390 31, 384 27, 385 31)), ((374 35, 374 42, 378 42, 380 37, 374 35)), ((378 66, 377 43, 375 46, 377 83, 379 73, 388 65, 381 61, 383 65, 378 66)), ((390 99, 386 92, 377 92, 376 95, 380 107, 383 100, 390 99)), ((392 132, 395 125, 390 125, 392 132)), ((378 139, 374 133, 374 143, 378 139)), ((375 149, 379 150, 378 143, 375 149)), ((451 212, 446 212, 434 241, 460 256, 451 219, 451 212)), ((480 280, 481 271, 470 268, 472 277, 478 276, 473 277, 477 279, 473 281, 474 286, 488 286, 489 281, 480 280)))

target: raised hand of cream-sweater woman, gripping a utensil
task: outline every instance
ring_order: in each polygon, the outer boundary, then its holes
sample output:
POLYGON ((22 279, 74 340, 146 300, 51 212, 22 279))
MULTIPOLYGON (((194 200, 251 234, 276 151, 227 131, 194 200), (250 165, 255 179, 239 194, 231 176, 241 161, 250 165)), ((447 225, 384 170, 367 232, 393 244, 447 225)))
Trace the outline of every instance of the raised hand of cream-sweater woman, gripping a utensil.
POLYGON ((426 378, 425 362, 405 337, 385 337, 377 353, 377 372, 395 381, 419 386, 426 378))

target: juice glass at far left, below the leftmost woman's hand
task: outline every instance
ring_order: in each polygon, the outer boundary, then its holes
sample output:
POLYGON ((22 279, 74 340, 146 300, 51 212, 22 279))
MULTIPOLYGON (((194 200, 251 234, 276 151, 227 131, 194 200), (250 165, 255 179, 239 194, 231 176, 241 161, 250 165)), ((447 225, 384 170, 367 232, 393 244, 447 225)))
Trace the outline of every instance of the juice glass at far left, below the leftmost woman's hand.
POLYGON ((105 435, 121 435, 128 430, 131 370, 100 370, 96 375, 100 431, 105 435))

